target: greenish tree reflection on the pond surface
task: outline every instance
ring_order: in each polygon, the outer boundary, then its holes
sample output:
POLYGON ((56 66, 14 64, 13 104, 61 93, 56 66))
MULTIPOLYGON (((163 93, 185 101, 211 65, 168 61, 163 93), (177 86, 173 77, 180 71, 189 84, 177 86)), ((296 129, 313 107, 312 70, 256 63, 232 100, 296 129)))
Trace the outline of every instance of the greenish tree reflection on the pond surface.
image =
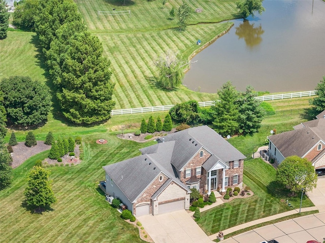
POLYGON ((262 29, 262 24, 255 27, 255 23, 250 24, 248 20, 240 23, 236 27, 236 35, 238 39, 244 38, 246 47, 253 50, 254 47, 257 47, 263 41, 261 35, 264 34, 264 29, 262 29))

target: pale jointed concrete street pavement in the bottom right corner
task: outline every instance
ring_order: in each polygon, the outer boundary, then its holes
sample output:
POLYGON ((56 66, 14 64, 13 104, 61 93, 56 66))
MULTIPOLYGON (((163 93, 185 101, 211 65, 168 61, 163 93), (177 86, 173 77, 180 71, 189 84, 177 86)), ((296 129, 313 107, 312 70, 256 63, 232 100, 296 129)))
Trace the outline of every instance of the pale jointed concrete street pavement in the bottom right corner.
POLYGON ((325 239, 325 213, 270 224, 225 239, 224 243, 258 243, 276 239, 280 243, 305 243, 325 239))

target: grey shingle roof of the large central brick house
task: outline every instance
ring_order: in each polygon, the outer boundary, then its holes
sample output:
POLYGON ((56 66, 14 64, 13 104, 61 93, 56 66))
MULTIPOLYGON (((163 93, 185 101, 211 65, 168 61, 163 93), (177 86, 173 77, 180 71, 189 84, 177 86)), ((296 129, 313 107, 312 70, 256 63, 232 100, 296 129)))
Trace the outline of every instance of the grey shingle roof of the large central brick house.
MULTIPOLYGON (((169 179, 152 198, 156 198, 172 181, 190 193, 187 186, 178 179, 179 171, 202 148, 212 153, 203 165, 207 171, 217 163, 224 165, 224 162, 245 158, 245 155, 208 126, 186 129, 157 140, 158 144, 140 149, 142 155, 103 167, 131 202, 134 202, 160 173, 164 173, 169 179)), ((193 183, 198 182, 194 181, 197 180, 194 178, 191 180, 193 183)), ((107 185, 110 186, 109 182, 107 185)))

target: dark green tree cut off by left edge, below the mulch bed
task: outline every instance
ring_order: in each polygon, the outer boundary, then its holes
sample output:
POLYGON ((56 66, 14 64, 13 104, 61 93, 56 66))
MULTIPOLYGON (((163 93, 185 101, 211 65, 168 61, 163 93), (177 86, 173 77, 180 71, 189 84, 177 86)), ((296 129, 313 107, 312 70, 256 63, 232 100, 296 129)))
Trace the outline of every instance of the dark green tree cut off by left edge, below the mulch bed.
POLYGON ((2 138, 0 138, 0 190, 3 190, 11 184, 11 172, 10 166, 11 156, 4 144, 2 138))

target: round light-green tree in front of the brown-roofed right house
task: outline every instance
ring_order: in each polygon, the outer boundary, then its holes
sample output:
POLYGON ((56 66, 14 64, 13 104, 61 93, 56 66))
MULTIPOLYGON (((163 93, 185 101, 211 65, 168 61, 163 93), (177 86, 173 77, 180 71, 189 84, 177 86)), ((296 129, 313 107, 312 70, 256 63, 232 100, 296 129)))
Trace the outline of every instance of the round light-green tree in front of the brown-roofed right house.
POLYGON ((296 155, 286 157, 281 162, 276 180, 294 193, 299 193, 302 189, 311 191, 317 185, 317 175, 311 161, 296 155))

